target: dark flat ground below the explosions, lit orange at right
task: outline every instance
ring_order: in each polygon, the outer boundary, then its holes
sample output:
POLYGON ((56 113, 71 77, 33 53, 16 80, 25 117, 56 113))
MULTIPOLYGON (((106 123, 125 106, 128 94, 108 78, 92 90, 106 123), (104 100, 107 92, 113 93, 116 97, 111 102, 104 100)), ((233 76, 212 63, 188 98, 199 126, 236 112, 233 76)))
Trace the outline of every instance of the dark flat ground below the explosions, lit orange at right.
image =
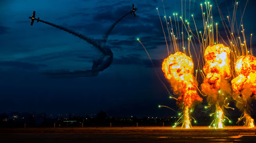
POLYGON ((84 127, 0 129, 0 142, 256 142, 256 128, 84 127))

